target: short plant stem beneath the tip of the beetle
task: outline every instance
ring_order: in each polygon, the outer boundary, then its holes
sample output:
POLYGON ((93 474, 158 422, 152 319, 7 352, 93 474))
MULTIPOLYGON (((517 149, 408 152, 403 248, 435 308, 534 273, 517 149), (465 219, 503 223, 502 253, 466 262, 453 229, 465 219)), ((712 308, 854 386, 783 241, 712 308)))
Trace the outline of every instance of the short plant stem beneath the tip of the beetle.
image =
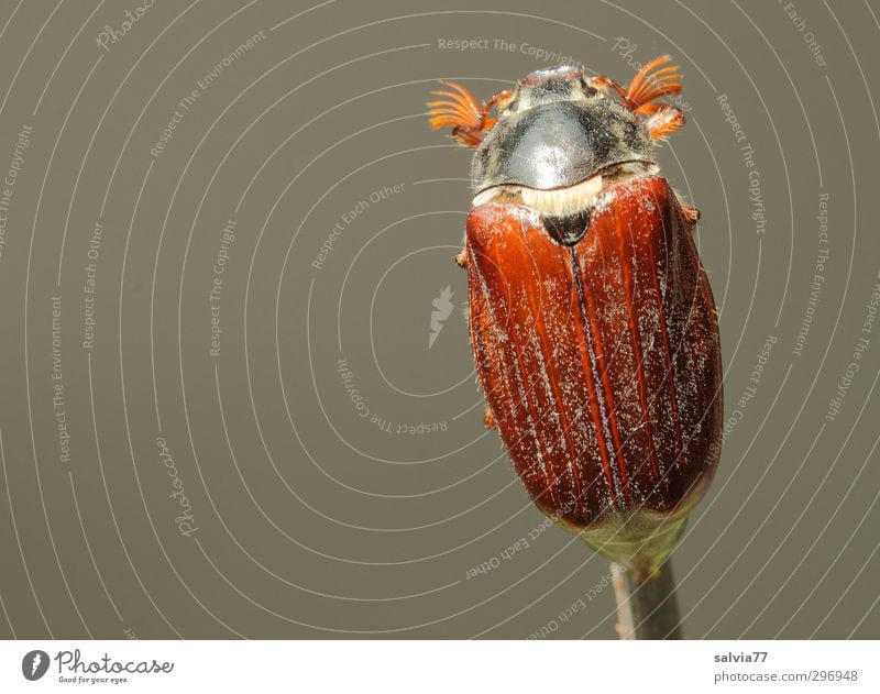
POLYGON ((653 575, 612 562, 612 576, 622 639, 682 638, 671 561, 667 560, 653 575))

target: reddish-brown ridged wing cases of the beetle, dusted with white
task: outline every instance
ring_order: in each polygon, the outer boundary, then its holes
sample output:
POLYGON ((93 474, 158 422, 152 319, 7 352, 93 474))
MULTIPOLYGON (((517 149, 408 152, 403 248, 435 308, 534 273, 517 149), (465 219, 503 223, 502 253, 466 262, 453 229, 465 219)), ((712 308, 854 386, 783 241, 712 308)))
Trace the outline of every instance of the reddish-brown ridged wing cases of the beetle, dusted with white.
POLYGON ((570 246, 529 207, 474 207, 466 253, 476 367, 535 503, 576 531, 640 510, 683 529, 718 459, 721 350, 666 179, 609 186, 570 246))

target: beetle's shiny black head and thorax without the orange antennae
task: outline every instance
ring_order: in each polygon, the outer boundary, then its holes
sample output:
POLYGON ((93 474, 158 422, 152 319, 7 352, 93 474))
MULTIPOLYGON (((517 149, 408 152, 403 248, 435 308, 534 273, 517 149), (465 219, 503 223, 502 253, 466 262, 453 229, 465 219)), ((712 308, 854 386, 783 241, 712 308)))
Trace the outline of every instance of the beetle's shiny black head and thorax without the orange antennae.
POLYGON ((471 184, 474 192, 499 185, 548 190, 627 162, 654 162, 644 122, 576 67, 561 66, 519 80, 474 154, 471 184))

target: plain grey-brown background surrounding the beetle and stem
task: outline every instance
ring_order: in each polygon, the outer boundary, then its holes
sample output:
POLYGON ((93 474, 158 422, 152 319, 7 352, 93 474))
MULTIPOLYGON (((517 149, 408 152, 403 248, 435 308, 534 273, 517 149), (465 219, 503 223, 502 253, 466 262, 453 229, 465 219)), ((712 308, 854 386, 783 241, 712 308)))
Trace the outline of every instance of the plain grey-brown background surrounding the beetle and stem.
POLYGON ((792 20, 785 2, 744 0, 157 0, 99 46, 140 4, 0 2, 0 173, 33 129, 0 256, 0 636, 615 637, 607 565, 546 528, 483 429, 465 275, 451 261, 469 153, 424 115, 439 78, 487 98, 556 62, 530 46, 623 82, 662 53, 684 73, 689 123, 661 162, 703 212, 726 412, 740 410, 673 555, 686 631, 880 636, 880 328, 862 333, 880 271, 876 2, 798 0, 792 20), (488 47, 441 47, 459 38, 488 47), (763 233, 721 95, 754 147, 763 233), (212 356, 209 291, 231 219, 212 356), (821 247, 824 284, 795 355, 821 247), (455 308, 429 350, 446 286, 455 308), (198 528, 188 537, 158 438, 198 528))

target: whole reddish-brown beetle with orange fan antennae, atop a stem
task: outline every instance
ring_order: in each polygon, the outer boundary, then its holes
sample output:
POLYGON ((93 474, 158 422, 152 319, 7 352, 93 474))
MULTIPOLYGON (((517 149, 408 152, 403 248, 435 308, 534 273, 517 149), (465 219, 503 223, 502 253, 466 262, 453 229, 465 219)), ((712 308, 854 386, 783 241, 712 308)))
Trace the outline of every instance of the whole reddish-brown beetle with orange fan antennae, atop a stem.
POLYGON ((486 425, 538 508, 646 576, 715 473, 723 419, 700 213, 657 163, 685 120, 670 62, 627 88, 559 66, 484 103, 442 81, 428 102, 475 148, 457 262, 486 425))

